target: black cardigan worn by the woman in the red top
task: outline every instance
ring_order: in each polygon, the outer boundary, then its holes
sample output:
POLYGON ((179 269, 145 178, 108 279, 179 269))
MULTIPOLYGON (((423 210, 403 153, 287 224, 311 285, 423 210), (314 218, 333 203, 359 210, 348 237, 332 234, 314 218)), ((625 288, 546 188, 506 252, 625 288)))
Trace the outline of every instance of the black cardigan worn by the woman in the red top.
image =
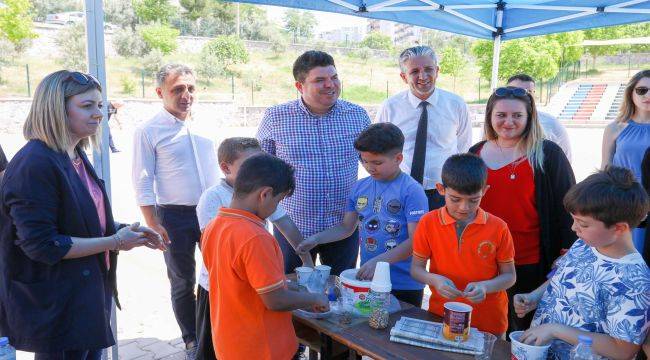
MULTIPOLYGON (((484 144, 485 141, 475 144, 469 152, 478 154, 484 144)), ((573 219, 562 202, 576 179, 569 160, 557 144, 544 140, 542 150, 544 170, 534 166, 535 203, 540 225, 540 265, 546 273, 560 256, 560 250, 570 248, 577 238, 571 230, 573 219)))

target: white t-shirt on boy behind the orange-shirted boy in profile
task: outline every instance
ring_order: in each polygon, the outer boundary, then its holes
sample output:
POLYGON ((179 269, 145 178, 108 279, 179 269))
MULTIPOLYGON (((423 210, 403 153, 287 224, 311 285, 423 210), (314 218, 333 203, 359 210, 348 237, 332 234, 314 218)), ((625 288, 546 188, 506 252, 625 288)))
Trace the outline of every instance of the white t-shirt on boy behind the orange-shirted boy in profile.
MULTIPOLYGON (((196 217, 199 219, 199 228, 201 232, 205 230, 210 221, 217 217, 219 209, 222 207, 229 207, 232 201, 232 196, 235 190, 230 186, 226 179, 221 179, 219 183, 201 194, 199 204, 196 206, 196 217)), ((287 216, 287 212, 282 205, 278 204, 275 212, 271 214, 266 220, 275 222, 287 216)), ((201 271, 199 272, 199 285, 206 291, 210 291, 210 282, 208 277, 208 269, 205 264, 201 262, 201 271)))

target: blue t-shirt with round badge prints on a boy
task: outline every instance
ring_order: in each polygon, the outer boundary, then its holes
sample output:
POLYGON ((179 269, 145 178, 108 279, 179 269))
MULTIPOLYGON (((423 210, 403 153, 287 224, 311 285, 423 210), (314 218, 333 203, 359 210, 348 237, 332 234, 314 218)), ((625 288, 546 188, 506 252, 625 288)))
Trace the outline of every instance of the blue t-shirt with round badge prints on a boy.
MULTIPOLYGON (((408 239, 408 223, 420 220, 429 210, 422 186, 400 173, 391 181, 372 177, 358 180, 352 187, 346 211, 359 214, 361 264, 389 251, 408 239)), ((420 290, 424 285, 410 274, 411 258, 390 265, 395 290, 420 290)))

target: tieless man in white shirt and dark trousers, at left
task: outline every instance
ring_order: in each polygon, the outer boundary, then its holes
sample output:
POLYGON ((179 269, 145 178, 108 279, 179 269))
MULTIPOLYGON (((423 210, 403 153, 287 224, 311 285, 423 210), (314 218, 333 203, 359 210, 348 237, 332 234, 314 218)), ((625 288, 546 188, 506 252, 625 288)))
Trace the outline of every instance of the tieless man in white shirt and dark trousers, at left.
POLYGON ((163 109, 134 134, 133 185, 147 226, 171 241, 164 253, 171 300, 186 346, 196 353, 196 264, 201 237, 196 204, 218 181, 211 140, 192 132, 196 77, 189 67, 168 64, 158 72, 156 93, 163 109))

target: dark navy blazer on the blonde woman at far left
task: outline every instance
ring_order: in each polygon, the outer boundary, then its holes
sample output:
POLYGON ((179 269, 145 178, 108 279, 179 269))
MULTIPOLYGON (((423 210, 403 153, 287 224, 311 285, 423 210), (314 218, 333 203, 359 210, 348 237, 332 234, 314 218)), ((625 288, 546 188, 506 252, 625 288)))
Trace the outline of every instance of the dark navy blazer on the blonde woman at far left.
MULTIPOLYGON (((116 226, 103 182, 106 235, 116 226)), ((54 352, 115 344, 110 300, 117 253, 64 260, 71 237, 101 233, 97 210, 66 153, 30 140, 9 163, 0 190, 0 333, 19 350, 54 352)))

